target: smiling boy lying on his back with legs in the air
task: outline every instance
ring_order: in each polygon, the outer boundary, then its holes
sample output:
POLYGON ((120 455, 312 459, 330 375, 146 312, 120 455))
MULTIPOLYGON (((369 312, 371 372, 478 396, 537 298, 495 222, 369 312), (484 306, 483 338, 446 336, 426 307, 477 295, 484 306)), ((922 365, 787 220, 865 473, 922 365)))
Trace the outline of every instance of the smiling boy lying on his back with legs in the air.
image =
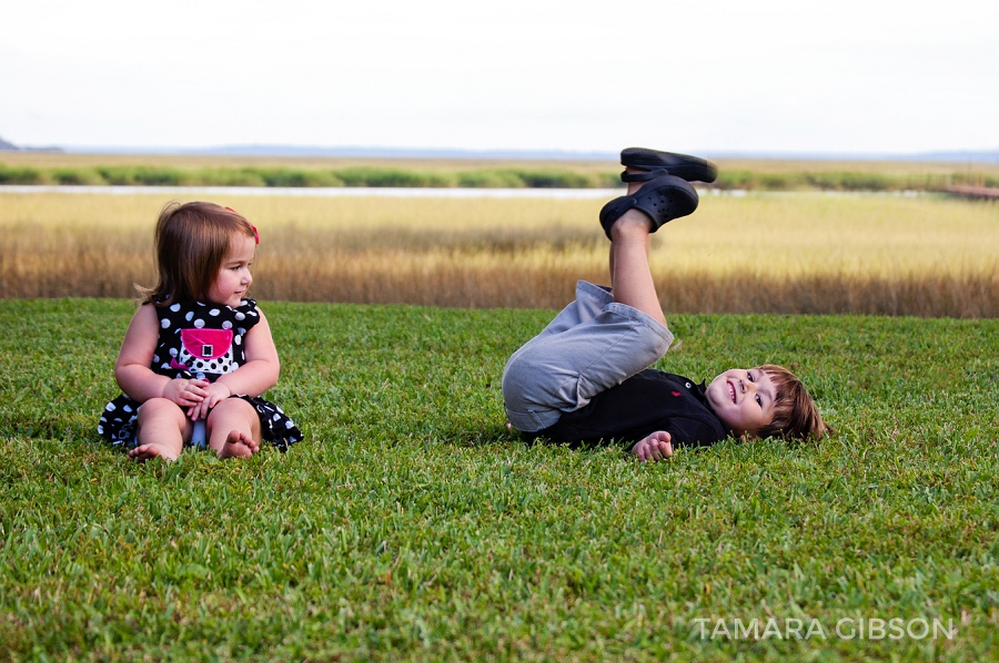
POLYGON ((704 446, 729 435, 821 438, 829 428, 786 368, 733 368, 707 387, 648 368, 673 343, 648 266, 649 234, 693 213, 698 198, 688 182, 713 182, 717 169, 640 147, 620 157, 628 194, 601 210, 612 287, 578 282, 576 300, 506 363, 512 427, 556 442, 634 442, 639 460, 668 458, 674 443, 704 446))

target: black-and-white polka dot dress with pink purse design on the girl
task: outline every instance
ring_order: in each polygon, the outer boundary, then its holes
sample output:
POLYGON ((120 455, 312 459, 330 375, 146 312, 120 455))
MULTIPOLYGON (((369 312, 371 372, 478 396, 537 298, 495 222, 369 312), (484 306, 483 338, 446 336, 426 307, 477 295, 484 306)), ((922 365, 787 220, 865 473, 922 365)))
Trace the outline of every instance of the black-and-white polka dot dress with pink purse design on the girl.
MULTIPOLYGON (((195 378, 214 382, 246 363, 243 339, 253 325, 260 322, 256 302, 243 299, 238 308, 202 304, 176 303, 157 307, 160 337, 150 368, 169 378, 195 378)), ((302 431, 291 417, 259 396, 233 395, 253 406, 260 417, 260 432, 265 441, 282 451, 302 439, 302 431)), ((125 396, 104 406, 98 422, 98 432, 115 446, 138 446, 139 407, 125 396)))

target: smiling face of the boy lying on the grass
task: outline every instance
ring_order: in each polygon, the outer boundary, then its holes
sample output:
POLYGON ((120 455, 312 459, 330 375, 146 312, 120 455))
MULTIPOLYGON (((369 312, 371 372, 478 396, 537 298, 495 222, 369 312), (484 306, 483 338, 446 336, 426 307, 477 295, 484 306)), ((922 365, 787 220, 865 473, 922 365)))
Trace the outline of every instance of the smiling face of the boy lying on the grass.
POLYGON ((708 385, 705 392, 722 425, 736 437, 758 437, 774 420, 777 386, 759 368, 731 368, 708 385))

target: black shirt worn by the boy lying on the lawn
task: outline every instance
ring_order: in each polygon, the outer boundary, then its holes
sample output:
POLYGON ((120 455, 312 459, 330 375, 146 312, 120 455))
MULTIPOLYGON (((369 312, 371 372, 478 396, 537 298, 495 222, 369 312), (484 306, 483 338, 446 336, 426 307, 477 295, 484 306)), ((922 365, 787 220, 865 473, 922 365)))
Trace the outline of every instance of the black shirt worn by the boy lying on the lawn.
POLYGON ((708 406, 705 389, 704 382, 646 368, 597 394, 585 407, 563 412, 555 425, 535 435, 553 442, 634 443, 665 430, 674 445, 713 445, 728 431, 708 406))

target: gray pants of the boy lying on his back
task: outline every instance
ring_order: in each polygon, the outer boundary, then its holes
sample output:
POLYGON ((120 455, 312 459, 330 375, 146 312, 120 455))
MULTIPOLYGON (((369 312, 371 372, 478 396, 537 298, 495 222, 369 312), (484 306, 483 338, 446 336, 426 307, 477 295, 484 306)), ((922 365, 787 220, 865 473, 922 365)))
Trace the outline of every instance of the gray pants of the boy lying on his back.
POLYGON ((672 343, 673 334, 652 316, 581 280, 576 300, 506 363, 506 417, 525 432, 553 426, 562 412, 655 364, 672 343))

